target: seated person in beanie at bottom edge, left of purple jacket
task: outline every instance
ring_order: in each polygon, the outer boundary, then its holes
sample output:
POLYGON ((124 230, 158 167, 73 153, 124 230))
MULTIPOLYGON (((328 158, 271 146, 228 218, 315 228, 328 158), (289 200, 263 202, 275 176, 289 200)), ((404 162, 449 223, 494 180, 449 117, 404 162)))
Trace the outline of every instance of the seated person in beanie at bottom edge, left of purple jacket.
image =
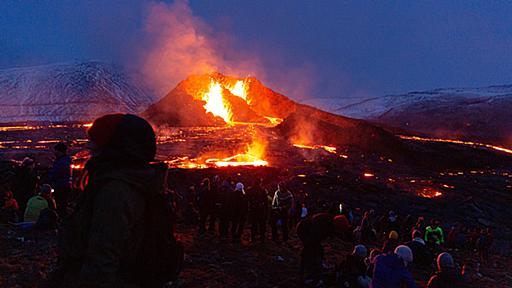
POLYGON ((367 288, 369 286, 371 279, 366 275, 365 263, 367 255, 368 250, 364 245, 356 245, 352 254, 347 255, 337 271, 337 282, 341 287, 367 288))

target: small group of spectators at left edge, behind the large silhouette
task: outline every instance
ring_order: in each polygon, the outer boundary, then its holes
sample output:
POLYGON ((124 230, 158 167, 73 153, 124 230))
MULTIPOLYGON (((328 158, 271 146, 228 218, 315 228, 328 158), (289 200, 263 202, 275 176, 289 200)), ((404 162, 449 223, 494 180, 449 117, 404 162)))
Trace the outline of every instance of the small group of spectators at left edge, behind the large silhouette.
POLYGON ((68 147, 57 143, 55 161, 46 175, 36 170, 33 157, 25 157, 0 187, 0 222, 35 225, 41 229, 57 227, 72 193, 71 158, 68 147))

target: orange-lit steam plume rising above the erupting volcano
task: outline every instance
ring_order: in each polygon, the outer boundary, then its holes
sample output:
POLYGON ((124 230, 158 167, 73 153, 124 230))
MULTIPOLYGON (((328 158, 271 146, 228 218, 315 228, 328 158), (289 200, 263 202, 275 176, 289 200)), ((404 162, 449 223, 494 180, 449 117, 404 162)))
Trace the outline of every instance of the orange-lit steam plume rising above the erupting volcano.
MULTIPOLYGON (((157 97, 166 95, 192 74, 220 72, 230 76, 255 76, 267 86, 295 98, 311 96, 314 67, 288 65, 278 52, 240 51, 234 39, 214 33, 193 14, 187 0, 171 4, 153 2, 147 9, 143 49, 139 50, 139 70, 157 97), (265 57, 260 55, 265 54, 265 57), (272 64, 265 69, 264 61, 272 64)), ((269 64, 269 63, 267 63, 269 64)))

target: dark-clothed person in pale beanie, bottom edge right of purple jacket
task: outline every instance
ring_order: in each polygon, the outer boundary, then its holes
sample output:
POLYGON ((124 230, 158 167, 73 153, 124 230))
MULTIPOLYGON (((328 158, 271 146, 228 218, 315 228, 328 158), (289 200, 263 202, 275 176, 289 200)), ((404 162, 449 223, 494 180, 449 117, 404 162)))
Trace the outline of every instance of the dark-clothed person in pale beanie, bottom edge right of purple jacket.
POLYGON ((427 288, 461 287, 462 275, 455 268, 452 255, 441 253, 437 256, 437 271, 430 277, 427 288))

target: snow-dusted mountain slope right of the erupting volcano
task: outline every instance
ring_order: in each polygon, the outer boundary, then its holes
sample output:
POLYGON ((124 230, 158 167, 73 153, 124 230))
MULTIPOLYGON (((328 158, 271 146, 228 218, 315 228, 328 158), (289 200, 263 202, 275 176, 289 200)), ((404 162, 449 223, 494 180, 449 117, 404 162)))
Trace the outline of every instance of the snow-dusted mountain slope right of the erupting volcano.
POLYGON ((314 99, 327 111, 431 137, 512 147, 512 85, 355 99, 314 99))

